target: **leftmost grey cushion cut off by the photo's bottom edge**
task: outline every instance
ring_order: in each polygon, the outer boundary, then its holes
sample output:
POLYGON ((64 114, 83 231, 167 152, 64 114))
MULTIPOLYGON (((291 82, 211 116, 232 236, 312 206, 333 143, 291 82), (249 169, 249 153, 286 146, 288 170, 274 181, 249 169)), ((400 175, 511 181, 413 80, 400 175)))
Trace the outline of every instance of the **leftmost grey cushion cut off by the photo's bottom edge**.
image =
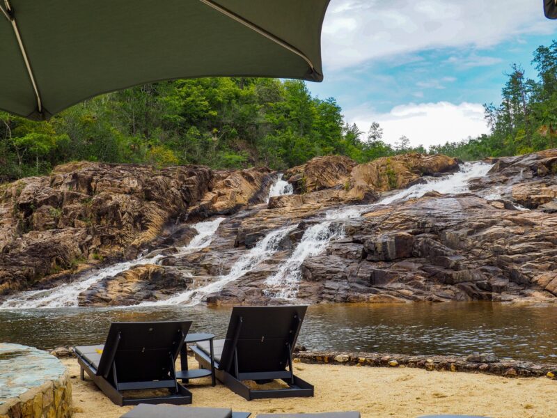
POLYGON ((194 408, 191 406, 148 405, 140 403, 120 418, 231 418, 227 408, 194 408))

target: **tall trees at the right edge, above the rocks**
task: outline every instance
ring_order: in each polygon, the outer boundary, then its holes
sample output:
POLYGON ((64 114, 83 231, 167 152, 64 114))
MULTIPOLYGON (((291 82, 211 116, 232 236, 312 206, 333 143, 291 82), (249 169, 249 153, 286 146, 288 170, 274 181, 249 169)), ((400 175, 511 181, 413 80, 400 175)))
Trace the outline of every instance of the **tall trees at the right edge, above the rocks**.
POLYGON ((526 79, 519 65, 512 65, 502 90, 501 104, 485 104, 491 133, 462 142, 432 146, 463 160, 519 155, 554 148, 557 139, 557 42, 535 50, 532 61, 537 79, 526 79))

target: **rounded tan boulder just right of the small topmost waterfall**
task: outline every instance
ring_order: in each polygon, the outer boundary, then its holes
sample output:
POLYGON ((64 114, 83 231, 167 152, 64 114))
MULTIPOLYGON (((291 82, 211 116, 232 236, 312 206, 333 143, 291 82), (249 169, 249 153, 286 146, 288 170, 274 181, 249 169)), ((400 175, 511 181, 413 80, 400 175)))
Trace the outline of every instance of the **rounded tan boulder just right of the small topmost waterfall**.
POLYGON ((284 173, 284 179, 292 183, 298 193, 315 192, 334 187, 345 187, 356 162, 343 155, 315 157, 284 173))

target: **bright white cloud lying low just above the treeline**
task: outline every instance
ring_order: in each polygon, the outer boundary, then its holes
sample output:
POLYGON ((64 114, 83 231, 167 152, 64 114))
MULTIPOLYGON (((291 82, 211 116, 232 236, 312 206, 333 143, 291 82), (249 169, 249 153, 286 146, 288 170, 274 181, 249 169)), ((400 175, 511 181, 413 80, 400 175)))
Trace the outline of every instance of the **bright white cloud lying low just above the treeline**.
POLYGON ((406 135, 413 146, 429 147, 477 137, 489 131, 483 106, 479 103, 410 103, 393 107, 386 114, 377 114, 363 106, 345 113, 346 120, 356 123, 361 130, 378 122, 384 129, 384 141, 389 144, 406 135))

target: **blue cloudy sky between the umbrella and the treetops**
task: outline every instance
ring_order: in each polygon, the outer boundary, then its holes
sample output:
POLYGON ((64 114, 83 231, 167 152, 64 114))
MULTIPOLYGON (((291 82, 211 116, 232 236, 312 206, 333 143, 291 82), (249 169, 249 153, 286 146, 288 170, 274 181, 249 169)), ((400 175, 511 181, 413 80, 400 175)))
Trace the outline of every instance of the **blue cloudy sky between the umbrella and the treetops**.
POLYGON ((541 0, 331 0, 322 29, 324 81, 348 123, 384 141, 431 146, 489 132, 483 104, 499 103, 518 63, 557 39, 541 0))

